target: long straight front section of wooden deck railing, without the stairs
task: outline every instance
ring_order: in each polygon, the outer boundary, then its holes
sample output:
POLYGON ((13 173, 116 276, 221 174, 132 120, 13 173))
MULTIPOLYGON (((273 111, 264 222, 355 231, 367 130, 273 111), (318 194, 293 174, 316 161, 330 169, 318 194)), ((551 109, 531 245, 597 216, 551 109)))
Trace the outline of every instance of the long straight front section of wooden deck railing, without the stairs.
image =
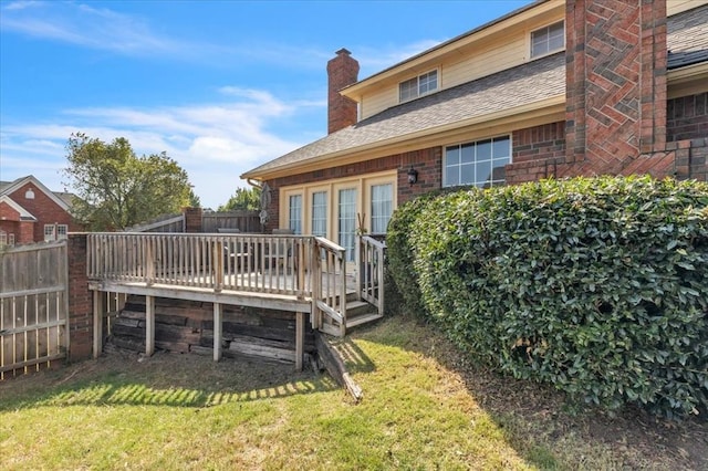
POLYGON ((311 237, 101 232, 87 237, 90 280, 302 297, 311 237))

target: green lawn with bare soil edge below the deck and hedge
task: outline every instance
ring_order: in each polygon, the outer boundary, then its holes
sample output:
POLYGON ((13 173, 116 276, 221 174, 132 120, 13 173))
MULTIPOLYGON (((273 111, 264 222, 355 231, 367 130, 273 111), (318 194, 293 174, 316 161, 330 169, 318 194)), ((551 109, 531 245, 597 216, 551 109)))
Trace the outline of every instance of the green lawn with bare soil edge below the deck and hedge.
POLYGON ((360 404, 327 375, 165 353, 6 380, 0 469, 690 469, 705 458, 691 448, 702 425, 680 426, 694 441, 677 444, 676 429, 663 443, 660 425, 633 426, 642 415, 571 416, 553 393, 471 367, 410 320, 340 348, 360 404))

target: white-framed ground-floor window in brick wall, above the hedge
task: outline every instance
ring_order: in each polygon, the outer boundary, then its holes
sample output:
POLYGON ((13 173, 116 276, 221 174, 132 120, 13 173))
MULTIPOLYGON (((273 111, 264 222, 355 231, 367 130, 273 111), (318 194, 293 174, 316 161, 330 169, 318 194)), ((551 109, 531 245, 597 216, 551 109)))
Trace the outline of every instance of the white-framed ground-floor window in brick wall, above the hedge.
POLYGON ((504 166, 511 163, 511 137, 500 136, 445 148, 442 184, 446 187, 504 185, 504 166))

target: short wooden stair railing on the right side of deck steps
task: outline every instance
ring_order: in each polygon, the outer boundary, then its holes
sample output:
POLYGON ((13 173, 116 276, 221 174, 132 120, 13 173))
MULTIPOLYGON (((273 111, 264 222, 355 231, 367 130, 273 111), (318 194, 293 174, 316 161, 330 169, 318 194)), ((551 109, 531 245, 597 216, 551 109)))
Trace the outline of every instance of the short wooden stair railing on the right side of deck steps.
POLYGON ((356 285, 364 301, 384 314, 384 259, 386 243, 371 236, 358 238, 358 270, 356 285))

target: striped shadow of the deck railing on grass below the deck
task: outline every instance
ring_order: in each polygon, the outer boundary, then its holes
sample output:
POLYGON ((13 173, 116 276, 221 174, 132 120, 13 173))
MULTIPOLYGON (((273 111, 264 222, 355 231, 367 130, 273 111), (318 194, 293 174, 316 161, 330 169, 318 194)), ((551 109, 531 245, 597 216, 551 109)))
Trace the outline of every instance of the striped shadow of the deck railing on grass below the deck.
POLYGON ((0 383, 0 411, 41 406, 212 407, 339 389, 327 375, 247 358, 111 353, 0 383))

